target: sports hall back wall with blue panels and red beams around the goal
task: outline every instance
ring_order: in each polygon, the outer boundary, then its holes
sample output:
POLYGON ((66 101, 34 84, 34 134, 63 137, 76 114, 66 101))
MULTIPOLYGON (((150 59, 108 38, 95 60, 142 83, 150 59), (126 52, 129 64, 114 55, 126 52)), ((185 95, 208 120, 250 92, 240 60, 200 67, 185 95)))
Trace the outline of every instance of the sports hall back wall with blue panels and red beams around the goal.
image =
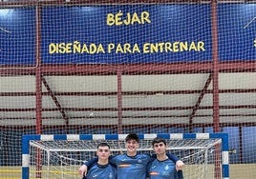
POLYGON ((0 1, 0 179, 23 134, 130 132, 228 133, 253 178, 255 34, 253 0, 0 1))

